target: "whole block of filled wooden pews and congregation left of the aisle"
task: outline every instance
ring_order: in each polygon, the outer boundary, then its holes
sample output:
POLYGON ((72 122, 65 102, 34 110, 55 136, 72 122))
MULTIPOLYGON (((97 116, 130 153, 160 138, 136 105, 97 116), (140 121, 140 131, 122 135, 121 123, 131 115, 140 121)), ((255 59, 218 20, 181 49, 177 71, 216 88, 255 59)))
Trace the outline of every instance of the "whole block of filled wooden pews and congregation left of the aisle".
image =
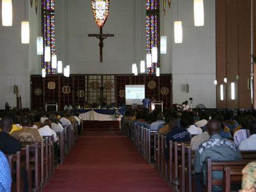
POLYGON ((0 191, 40 191, 77 140, 79 114, 4 113, 0 132, 0 191))

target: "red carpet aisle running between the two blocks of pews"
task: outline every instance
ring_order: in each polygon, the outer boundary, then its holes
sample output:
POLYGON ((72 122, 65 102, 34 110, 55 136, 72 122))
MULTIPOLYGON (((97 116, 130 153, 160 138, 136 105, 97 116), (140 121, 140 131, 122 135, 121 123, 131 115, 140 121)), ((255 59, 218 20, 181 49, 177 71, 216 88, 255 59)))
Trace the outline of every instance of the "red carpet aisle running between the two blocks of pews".
POLYGON ((118 131, 77 141, 44 191, 169 191, 168 184, 118 131))

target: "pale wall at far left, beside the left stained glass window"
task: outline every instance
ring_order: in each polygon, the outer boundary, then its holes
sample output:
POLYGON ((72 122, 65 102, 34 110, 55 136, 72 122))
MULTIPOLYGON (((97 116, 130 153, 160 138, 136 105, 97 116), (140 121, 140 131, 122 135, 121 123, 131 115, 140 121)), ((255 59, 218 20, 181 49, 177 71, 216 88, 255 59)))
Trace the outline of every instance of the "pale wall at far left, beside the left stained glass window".
MULTIPOLYGON (((12 3, 13 26, 3 27, 2 21, 0 24, 0 109, 4 109, 6 101, 9 102, 10 106, 16 106, 16 96, 13 93, 15 84, 20 86, 22 107, 30 107, 30 74, 34 72, 34 66, 39 65, 40 67, 38 58, 35 56, 34 38, 35 31, 38 30, 34 27, 38 23, 38 19, 35 19, 37 17, 35 7, 31 10, 28 0, 26 1, 26 19, 32 18, 30 23, 31 44, 24 45, 21 44, 21 21, 25 19, 24 1, 12 1, 12 3)), ((1 0, 0 4, 2 4, 1 0)), ((2 15, 1 9, 0 15, 2 15)))

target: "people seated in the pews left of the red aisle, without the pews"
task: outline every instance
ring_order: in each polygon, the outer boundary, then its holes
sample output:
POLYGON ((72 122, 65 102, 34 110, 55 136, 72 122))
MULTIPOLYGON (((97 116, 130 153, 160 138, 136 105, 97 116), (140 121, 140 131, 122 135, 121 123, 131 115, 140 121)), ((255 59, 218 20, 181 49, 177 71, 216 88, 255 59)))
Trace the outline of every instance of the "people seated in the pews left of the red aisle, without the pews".
MULTIPOLYGON (((63 146, 61 146, 63 142, 60 142, 61 133, 64 132, 65 127, 70 127, 70 135, 75 134, 76 129, 73 128, 75 127, 74 125, 77 125, 77 121, 81 124, 81 120, 78 116, 78 118, 75 118, 74 116, 69 116, 69 114, 61 114, 62 116, 56 116, 55 114, 40 116, 34 114, 35 113, 29 113, 20 118, 18 115, 9 113, 1 118, 0 161, 3 162, 3 164, 0 164, 0 191, 10 191, 12 183, 12 178, 10 178, 10 166, 6 166, 7 159, 3 154, 6 154, 6 156, 17 154, 17 152, 22 150, 22 146, 24 145, 28 145, 29 143, 29 145, 43 143, 45 137, 49 137, 49 140, 52 137, 52 145, 54 145, 52 146, 52 148, 54 148, 54 158, 52 159, 56 160, 52 162, 52 164, 57 165, 62 158, 60 154, 61 147, 63 148, 63 146)), ((71 141, 69 142, 71 143, 71 141)), ((30 173, 27 172, 26 168, 21 166, 20 178, 23 182, 22 191, 29 191, 29 175, 30 173)))

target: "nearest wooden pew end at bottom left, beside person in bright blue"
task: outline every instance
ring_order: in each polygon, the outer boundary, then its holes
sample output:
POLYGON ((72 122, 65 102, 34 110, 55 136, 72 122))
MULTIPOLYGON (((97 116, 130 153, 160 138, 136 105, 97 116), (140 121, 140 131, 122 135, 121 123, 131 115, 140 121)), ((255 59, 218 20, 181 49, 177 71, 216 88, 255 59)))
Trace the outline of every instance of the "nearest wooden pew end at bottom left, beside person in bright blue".
MULTIPOLYGON (((6 158, 10 164, 12 179, 12 191, 20 191, 20 151, 16 154, 6 154, 6 158), (15 177, 16 176, 16 177, 15 177)), ((22 189, 21 189, 22 191, 22 189)))

